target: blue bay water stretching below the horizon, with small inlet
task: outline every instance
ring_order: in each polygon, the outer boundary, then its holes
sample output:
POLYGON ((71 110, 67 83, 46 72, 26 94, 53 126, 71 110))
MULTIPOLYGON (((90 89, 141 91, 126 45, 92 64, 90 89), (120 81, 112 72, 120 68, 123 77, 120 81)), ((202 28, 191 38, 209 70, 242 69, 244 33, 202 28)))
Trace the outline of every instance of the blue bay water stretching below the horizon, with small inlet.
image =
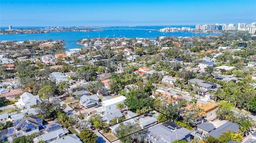
MULTIPOLYGON (((193 36, 206 36, 206 35, 220 35, 220 33, 194 33, 189 31, 179 32, 159 32, 158 30, 166 26, 151 26, 151 27, 105 27, 97 29, 97 31, 86 31, 86 32, 50 32, 50 33, 35 33, 35 34, 12 34, 12 35, 0 35, 0 40, 63 40, 66 43, 68 49, 83 47, 77 45, 77 40, 82 38, 152 38, 155 39, 159 36, 182 36, 182 37, 193 37, 193 36)), ((181 27, 181 26, 170 26, 170 27, 181 27)), ((186 26, 191 27, 191 26, 186 26)))

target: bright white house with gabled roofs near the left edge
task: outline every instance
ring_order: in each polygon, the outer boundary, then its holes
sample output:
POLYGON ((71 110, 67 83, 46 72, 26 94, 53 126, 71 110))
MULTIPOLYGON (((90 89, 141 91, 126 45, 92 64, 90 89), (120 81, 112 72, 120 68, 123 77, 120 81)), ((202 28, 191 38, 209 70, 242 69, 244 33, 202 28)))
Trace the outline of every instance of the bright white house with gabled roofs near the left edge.
POLYGON ((31 105, 35 105, 39 102, 39 96, 34 96, 33 94, 30 94, 29 92, 24 92, 21 96, 18 102, 15 103, 15 105, 19 108, 30 108, 31 105))

